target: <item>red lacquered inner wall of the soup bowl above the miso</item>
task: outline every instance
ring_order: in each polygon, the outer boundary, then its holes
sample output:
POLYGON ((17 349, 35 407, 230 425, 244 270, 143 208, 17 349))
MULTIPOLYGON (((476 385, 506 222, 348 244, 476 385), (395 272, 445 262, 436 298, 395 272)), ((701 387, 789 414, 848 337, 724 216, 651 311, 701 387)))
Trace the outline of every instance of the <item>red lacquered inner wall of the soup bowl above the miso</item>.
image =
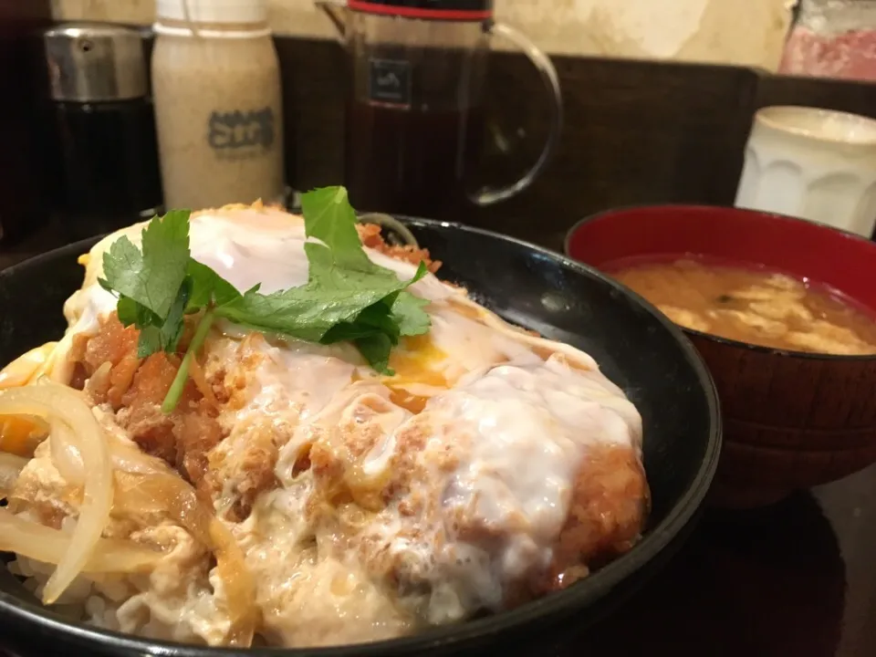
POLYGON ((709 255, 808 277, 876 309, 876 245, 777 214, 695 205, 625 208, 577 224, 566 251, 599 269, 631 257, 709 255))

